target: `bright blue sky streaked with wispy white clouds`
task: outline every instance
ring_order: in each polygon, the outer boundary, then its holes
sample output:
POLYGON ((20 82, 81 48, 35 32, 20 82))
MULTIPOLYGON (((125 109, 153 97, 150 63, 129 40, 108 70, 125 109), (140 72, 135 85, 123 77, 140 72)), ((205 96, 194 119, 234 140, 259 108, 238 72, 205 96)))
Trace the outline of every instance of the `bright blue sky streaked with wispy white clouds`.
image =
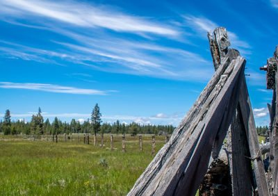
POLYGON ((278 1, 0 0, 0 114, 31 120, 174 124, 213 75, 206 38, 227 28, 247 60, 256 125, 268 125, 265 72, 278 1))

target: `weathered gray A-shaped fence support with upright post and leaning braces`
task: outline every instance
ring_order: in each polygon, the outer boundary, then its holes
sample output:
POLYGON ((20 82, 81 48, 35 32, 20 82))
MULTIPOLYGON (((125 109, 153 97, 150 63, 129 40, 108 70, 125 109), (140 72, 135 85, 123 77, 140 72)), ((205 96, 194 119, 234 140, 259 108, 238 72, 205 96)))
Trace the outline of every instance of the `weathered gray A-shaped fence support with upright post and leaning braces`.
POLYGON ((215 74, 128 195, 195 195, 208 166, 218 158, 228 129, 232 193, 254 195, 255 178, 259 195, 269 195, 245 82, 245 59, 228 48, 225 28, 215 28, 208 40, 215 74))

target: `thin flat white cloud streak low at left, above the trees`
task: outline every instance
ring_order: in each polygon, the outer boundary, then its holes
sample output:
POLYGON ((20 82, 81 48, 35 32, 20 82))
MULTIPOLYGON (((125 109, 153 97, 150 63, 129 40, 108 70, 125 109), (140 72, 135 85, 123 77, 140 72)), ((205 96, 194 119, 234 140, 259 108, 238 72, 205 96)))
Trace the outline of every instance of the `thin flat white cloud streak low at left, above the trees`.
POLYGON ((70 93, 79 95, 107 95, 104 90, 93 90, 74 88, 61 85, 45 84, 45 83, 11 83, 11 82, 0 82, 0 88, 17 88, 17 89, 28 89, 28 90, 41 90, 47 92, 58 92, 58 93, 70 93))

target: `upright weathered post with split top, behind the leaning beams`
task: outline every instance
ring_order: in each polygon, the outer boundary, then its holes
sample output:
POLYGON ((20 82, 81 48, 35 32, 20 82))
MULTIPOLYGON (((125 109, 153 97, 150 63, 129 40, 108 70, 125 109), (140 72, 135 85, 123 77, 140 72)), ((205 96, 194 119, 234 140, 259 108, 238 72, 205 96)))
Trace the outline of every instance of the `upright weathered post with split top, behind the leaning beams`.
MULTIPOLYGON (((227 31, 223 27, 215 28, 213 34, 208 33, 208 41, 215 70, 218 70, 224 58, 228 57, 233 60, 240 56, 235 49, 228 49, 230 42, 227 31)), ((238 105, 226 136, 231 186, 233 195, 252 195, 252 168, 250 160, 246 158, 250 157, 250 152, 242 118, 238 105)), ((222 139, 218 138, 215 141, 212 152, 213 159, 218 157, 222 139)))

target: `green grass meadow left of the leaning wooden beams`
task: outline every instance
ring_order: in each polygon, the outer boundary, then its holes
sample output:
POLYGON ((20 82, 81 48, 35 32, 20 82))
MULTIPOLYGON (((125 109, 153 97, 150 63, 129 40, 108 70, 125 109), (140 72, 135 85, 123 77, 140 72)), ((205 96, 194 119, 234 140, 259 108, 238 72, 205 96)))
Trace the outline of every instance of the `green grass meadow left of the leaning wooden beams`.
MULTIPOLYGON (((125 153, 121 136, 114 136, 113 151, 110 136, 104 149, 100 138, 97 147, 81 139, 0 136, 0 195, 126 195, 153 158, 150 136, 142 137, 143 152, 138 136, 126 137, 125 153)), ((163 136, 156 137, 156 152, 164 143, 163 136)))

